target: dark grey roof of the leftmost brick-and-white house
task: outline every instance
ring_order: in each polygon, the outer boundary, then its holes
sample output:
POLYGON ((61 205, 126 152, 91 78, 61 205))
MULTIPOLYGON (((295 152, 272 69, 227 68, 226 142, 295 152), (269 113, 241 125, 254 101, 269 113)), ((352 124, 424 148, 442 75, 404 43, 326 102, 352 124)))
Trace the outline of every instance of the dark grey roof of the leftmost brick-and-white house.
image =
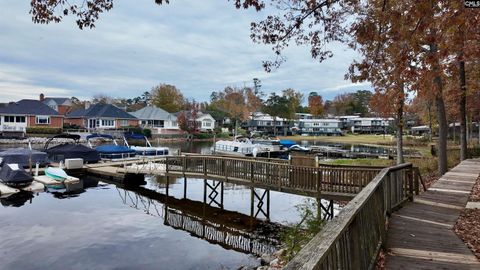
POLYGON ((22 99, 0 107, 0 114, 59 115, 57 111, 39 100, 22 99))

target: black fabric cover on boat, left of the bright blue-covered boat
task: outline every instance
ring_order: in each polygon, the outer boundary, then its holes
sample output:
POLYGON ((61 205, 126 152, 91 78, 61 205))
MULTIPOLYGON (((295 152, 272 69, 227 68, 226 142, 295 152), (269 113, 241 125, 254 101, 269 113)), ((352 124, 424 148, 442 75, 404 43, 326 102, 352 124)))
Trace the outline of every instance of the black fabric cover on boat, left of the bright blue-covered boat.
POLYGON ((48 157, 53 161, 61 161, 69 158, 82 158, 85 163, 100 161, 98 151, 81 144, 60 144, 46 150, 48 157))

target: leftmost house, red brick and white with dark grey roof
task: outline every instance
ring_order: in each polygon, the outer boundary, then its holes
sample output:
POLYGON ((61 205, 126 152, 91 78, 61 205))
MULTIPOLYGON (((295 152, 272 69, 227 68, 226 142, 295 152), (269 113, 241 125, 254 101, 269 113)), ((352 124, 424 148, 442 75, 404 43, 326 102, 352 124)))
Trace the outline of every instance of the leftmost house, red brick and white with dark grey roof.
POLYGON ((22 99, 0 107, 2 133, 25 133, 27 127, 62 128, 63 116, 39 100, 22 99))

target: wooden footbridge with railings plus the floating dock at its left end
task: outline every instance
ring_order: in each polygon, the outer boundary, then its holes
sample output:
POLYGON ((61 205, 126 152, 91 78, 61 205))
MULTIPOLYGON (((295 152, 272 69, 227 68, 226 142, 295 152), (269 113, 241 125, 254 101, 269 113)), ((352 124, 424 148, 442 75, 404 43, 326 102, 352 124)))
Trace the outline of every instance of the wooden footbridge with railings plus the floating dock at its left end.
MULTIPOLYGON (((85 165, 89 174, 111 180, 143 175, 210 179, 297 195, 350 200, 381 170, 377 167, 296 166, 284 161, 212 155, 168 156, 85 165)), ((138 177, 137 177, 138 178, 138 177)))

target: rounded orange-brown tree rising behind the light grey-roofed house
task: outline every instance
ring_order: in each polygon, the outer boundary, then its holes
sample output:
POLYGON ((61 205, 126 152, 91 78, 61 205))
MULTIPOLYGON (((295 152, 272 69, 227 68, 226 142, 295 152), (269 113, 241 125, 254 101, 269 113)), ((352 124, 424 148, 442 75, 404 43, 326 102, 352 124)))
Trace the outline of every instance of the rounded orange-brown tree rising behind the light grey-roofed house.
POLYGON ((185 98, 180 90, 173 85, 157 85, 152 88, 150 93, 153 105, 169 113, 178 112, 185 106, 185 98))

